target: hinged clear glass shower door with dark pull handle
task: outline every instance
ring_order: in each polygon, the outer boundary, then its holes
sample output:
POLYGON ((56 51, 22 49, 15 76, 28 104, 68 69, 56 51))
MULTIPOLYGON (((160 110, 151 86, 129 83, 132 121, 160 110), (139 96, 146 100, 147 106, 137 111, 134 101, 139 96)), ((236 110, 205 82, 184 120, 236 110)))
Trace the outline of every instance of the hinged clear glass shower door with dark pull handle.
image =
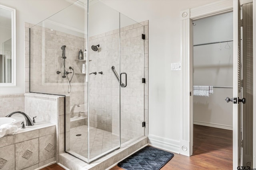
POLYGON ((144 136, 144 24, 120 14, 121 144, 144 136))

